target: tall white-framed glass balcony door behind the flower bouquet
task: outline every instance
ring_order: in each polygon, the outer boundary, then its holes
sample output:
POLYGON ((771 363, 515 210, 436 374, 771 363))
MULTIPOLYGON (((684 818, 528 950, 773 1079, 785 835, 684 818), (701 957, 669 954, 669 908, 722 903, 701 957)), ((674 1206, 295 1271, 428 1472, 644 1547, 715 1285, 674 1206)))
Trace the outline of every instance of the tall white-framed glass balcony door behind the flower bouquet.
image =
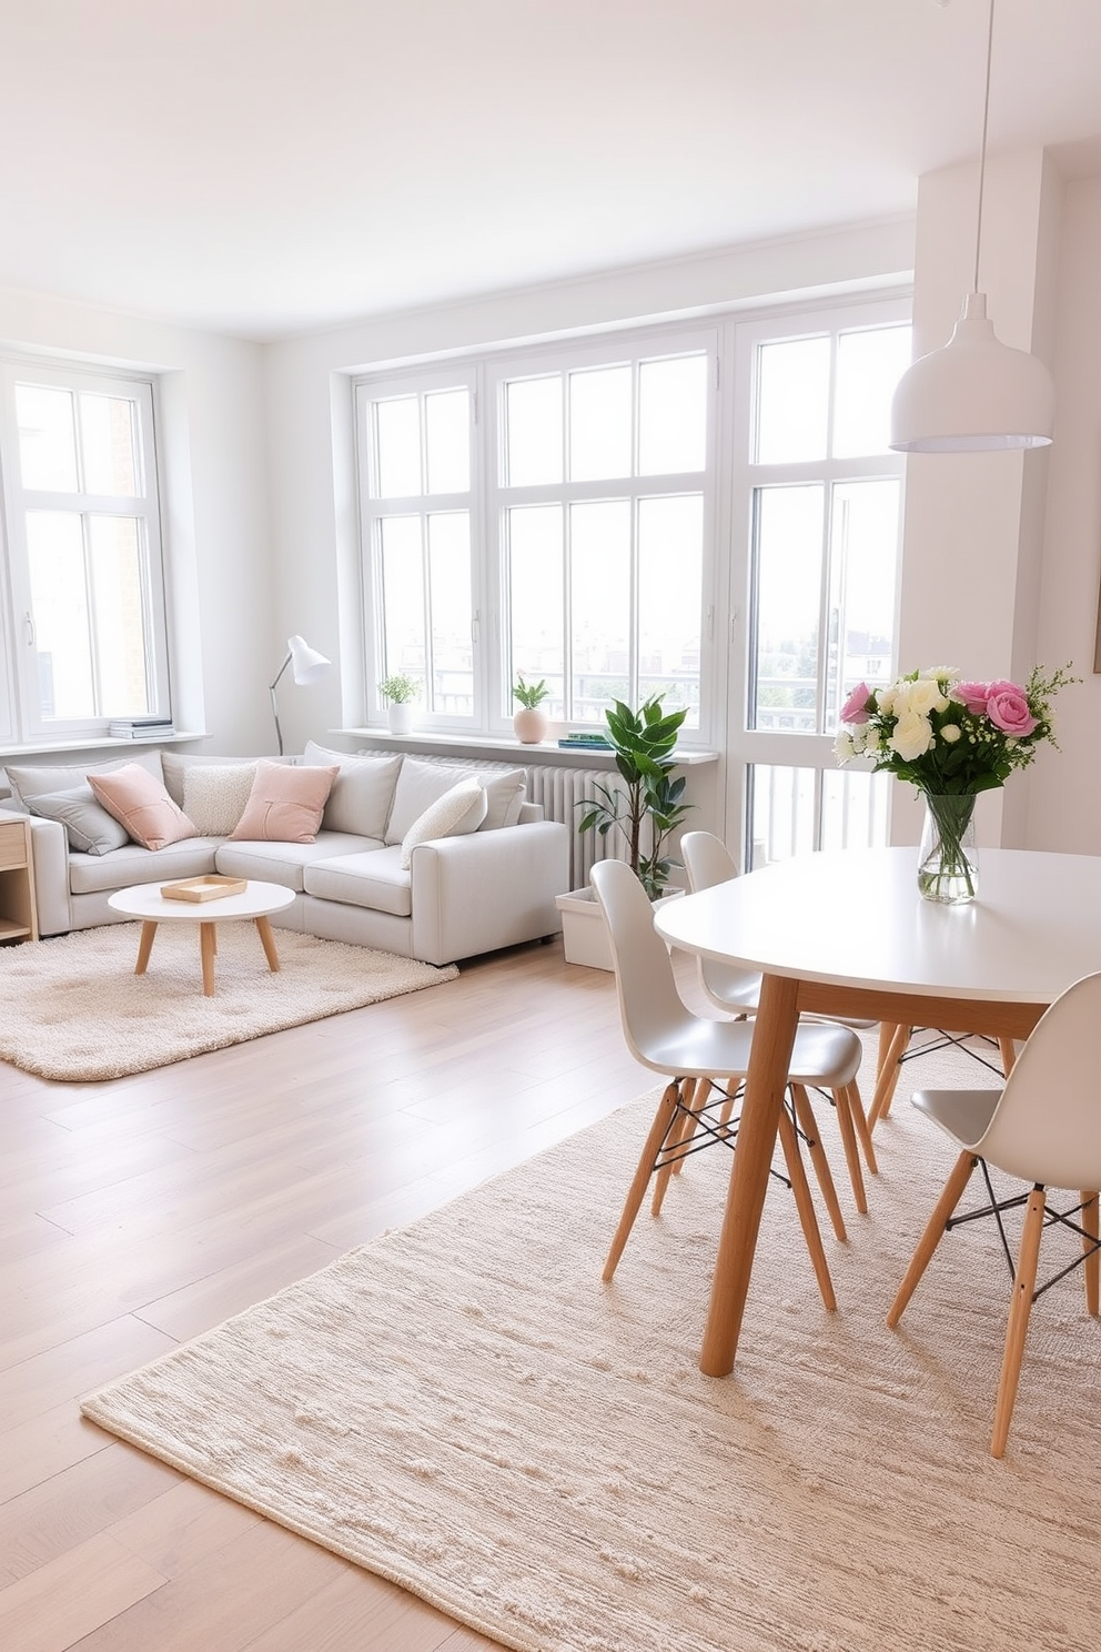
POLYGON ((895 671, 903 456, 886 446, 910 363, 905 301, 738 327, 736 628, 728 771, 744 864, 886 841, 886 778, 839 770, 837 712, 895 671))

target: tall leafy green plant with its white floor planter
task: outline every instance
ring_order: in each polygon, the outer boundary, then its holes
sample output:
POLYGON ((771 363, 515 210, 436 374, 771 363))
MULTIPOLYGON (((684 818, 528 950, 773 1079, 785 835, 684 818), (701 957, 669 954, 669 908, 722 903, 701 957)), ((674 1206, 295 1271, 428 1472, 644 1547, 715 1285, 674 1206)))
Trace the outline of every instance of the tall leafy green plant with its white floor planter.
MULTIPOLYGON (((669 874, 682 864, 667 852, 667 844, 695 808, 683 801, 687 780, 683 775, 673 778, 677 762, 670 755, 687 715, 687 709, 664 712, 660 694, 645 700, 637 712, 616 700, 614 710, 606 710, 604 719, 624 783, 598 783, 596 798, 579 805, 584 813, 578 831, 596 831, 601 838, 616 833, 626 843, 627 864, 650 900, 665 897, 669 874)), ((566 961, 611 970, 611 947, 593 890, 576 889, 558 895, 558 910, 563 915, 566 961), (599 925, 596 932, 594 922, 599 925)))

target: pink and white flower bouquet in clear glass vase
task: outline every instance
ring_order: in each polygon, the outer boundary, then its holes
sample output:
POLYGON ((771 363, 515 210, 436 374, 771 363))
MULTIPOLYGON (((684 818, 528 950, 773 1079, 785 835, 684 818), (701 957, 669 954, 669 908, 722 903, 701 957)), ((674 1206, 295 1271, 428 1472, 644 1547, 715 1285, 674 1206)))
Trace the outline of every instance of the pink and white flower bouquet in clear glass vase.
POLYGON ((1051 695, 1078 681, 1068 672, 1045 676, 1033 666, 1022 687, 966 682, 959 671, 933 666, 885 689, 858 682, 842 705, 837 760, 872 757, 877 771, 890 770, 924 795, 918 889, 928 900, 974 900, 976 796, 1027 768, 1042 742, 1058 747, 1051 695))

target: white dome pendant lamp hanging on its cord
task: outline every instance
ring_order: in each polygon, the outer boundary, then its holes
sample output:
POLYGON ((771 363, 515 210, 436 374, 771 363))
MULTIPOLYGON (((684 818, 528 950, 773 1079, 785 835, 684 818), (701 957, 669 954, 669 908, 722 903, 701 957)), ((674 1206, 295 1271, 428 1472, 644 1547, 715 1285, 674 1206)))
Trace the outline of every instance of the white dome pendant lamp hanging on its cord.
POLYGON ((994 0, 987 23, 974 287, 947 344, 919 357, 898 382, 890 439, 898 453, 984 453, 1047 448, 1051 441, 1051 375, 1038 357, 999 342, 987 319, 985 292, 979 292, 992 56, 994 0))

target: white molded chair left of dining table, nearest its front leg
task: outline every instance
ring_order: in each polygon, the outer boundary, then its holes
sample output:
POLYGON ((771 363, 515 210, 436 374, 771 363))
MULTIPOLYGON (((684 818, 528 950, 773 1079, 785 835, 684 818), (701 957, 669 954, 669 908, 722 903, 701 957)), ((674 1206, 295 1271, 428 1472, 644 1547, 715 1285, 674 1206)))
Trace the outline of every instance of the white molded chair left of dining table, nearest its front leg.
MULTIPOLYGON (((746 1021, 708 1021, 693 1014, 677 991, 673 966, 664 940, 654 928, 654 909, 639 879, 624 861, 598 861, 591 872, 593 889, 607 922, 619 1018, 627 1049, 670 1082, 654 1115, 650 1133, 642 1148, 634 1180, 627 1191, 624 1211, 612 1239, 604 1280, 611 1280, 622 1256, 627 1236, 639 1214, 650 1176, 657 1175, 654 1188, 654 1214, 662 1208, 665 1188, 673 1168, 688 1153, 713 1143, 735 1145, 736 1127, 728 1123, 730 1094, 718 1089, 716 1075, 736 1085, 749 1067, 753 1024, 746 1021)), ((840 1090, 852 1084, 860 1066, 860 1039, 839 1026, 799 1028, 791 1059, 791 1085, 799 1090, 807 1084, 824 1084, 840 1090)), ((731 1092, 733 1094, 733 1092, 731 1092)), ((796 1104, 799 1108, 799 1102, 796 1104)), ((834 1231, 845 1237, 837 1194, 829 1173, 829 1163, 817 1140, 814 1115, 807 1115, 810 1132, 806 1132, 804 1113, 801 1127, 809 1137, 810 1155, 822 1194, 830 1206, 834 1231), (829 1193, 827 1193, 829 1188, 829 1193)), ((814 1272, 827 1308, 837 1307, 834 1287, 825 1264, 822 1236, 810 1201, 807 1176, 799 1155, 799 1138, 791 1117, 782 1108, 779 1140, 787 1163, 787 1175, 796 1194, 799 1221, 810 1252, 814 1272)))

